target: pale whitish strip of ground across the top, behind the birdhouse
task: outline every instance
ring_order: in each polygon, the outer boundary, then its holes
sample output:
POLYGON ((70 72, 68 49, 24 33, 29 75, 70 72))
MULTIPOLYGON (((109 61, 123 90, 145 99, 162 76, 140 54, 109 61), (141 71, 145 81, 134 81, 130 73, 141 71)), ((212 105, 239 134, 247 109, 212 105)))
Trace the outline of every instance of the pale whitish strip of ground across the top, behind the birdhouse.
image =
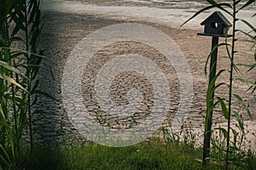
MULTIPOLYGON (((153 22, 164 26, 178 28, 183 22, 189 19, 200 8, 157 8, 148 6, 147 4, 132 3, 131 1, 104 0, 99 2, 91 2, 90 0, 53 0, 43 2, 44 10, 54 10, 59 12, 73 14, 96 14, 112 20, 128 20, 140 22, 153 22), (128 2, 126 4, 125 2, 128 2), (130 3, 129 3, 130 2, 130 3), (136 6, 137 5, 137 6, 136 6)), ((212 14, 215 10, 210 9, 190 20, 183 26, 185 29, 203 30, 201 21, 212 14)), ((256 26, 256 20, 253 20, 253 10, 242 10, 238 17, 247 20, 256 26)), ((224 14, 228 20, 230 16, 224 14)), ((237 29, 248 31, 248 27, 238 22, 237 29)))

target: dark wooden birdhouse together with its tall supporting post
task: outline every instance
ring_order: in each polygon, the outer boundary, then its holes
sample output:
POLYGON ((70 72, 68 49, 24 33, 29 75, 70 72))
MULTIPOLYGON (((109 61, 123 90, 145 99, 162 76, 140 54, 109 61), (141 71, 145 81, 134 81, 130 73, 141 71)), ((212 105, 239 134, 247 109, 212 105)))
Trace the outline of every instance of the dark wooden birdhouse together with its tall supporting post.
MULTIPOLYGON (((212 37, 212 50, 218 45, 218 37, 231 37, 228 35, 228 29, 232 26, 223 14, 220 12, 214 12, 206 20, 201 23, 201 26, 205 25, 204 33, 198 33, 200 36, 212 37)), ((213 78, 216 76, 217 68, 217 56, 218 48, 215 48, 211 54, 210 61, 210 78, 209 85, 213 78)), ((213 87, 215 84, 213 85, 213 87)), ((210 105, 213 105, 214 93, 212 93, 210 105)), ((207 112, 208 112, 207 108, 207 112)), ((205 133, 204 133, 204 145, 203 145, 203 165, 207 165, 207 161, 210 161, 210 144, 211 144, 211 133, 212 133, 212 113, 206 116, 205 133)))

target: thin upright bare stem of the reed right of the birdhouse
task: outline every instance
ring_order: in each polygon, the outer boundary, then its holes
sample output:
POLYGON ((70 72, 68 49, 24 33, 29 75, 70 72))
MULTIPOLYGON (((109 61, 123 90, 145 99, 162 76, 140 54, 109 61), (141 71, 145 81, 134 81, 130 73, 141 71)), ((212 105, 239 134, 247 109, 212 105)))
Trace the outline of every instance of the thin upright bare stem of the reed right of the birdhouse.
POLYGON ((232 84, 233 84, 233 68, 234 68, 234 55, 235 55, 235 42, 236 42, 236 0, 233 0, 233 30, 232 30, 232 46, 231 46, 231 59, 230 59, 230 91, 229 91, 229 117, 228 117, 228 137, 227 137, 227 150, 225 169, 229 167, 229 154, 230 154, 230 116, 232 105, 232 84))

